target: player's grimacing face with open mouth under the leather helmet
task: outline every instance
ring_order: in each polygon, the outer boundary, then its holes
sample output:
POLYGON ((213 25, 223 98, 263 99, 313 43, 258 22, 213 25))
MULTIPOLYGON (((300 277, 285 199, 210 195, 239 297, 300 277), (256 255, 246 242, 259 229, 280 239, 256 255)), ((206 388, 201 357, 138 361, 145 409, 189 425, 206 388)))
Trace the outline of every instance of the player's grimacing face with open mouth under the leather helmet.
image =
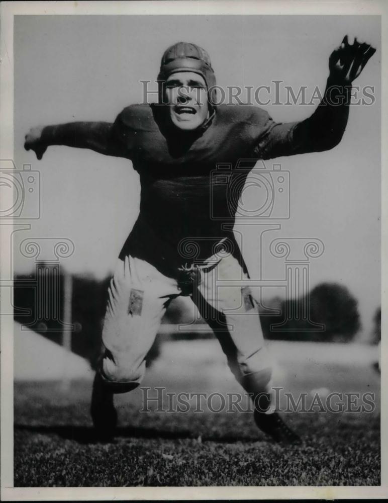
POLYGON ((177 128, 192 131, 208 118, 208 89, 198 73, 172 73, 166 79, 165 95, 171 122, 177 128))

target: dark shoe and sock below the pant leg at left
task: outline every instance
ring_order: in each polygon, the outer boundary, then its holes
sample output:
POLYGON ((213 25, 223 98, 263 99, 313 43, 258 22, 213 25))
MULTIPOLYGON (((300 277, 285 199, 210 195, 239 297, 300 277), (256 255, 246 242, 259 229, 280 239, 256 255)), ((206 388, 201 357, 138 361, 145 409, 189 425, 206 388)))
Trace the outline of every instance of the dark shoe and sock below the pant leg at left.
POLYGON ((103 442, 113 440, 117 425, 117 412, 113 404, 113 393, 99 372, 96 372, 93 381, 90 414, 97 440, 103 442))

